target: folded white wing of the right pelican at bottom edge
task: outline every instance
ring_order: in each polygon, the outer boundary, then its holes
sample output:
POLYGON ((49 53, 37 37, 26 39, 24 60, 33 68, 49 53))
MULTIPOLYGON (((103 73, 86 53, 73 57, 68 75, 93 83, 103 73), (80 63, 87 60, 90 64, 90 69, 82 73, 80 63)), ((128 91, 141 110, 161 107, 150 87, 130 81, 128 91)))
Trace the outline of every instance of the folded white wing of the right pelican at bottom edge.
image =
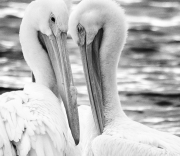
POLYGON ((166 149, 156 148, 147 144, 117 138, 114 136, 100 135, 92 142, 92 151, 89 156, 177 156, 166 149))

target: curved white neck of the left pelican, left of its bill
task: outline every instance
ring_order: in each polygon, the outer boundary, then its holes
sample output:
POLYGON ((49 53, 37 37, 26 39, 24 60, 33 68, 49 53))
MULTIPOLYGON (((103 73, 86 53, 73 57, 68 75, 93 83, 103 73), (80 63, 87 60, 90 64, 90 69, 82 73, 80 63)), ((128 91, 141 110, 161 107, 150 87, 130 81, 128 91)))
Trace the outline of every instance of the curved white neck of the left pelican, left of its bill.
POLYGON ((24 17, 19 35, 24 58, 35 76, 36 83, 47 86, 57 96, 56 78, 51 62, 38 40, 37 30, 28 24, 28 20, 24 17))

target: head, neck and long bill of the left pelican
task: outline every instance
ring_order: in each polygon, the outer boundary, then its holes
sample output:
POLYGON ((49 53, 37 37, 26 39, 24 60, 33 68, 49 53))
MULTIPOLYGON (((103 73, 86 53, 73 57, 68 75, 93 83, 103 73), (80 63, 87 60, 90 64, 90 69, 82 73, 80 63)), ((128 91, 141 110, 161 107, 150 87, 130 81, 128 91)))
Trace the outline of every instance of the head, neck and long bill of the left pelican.
POLYGON ((36 83, 47 86, 59 99, 62 98, 77 144, 79 122, 76 94, 73 92, 72 73, 66 50, 68 17, 68 6, 63 0, 31 2, 21 23, 20 42, 36 83))

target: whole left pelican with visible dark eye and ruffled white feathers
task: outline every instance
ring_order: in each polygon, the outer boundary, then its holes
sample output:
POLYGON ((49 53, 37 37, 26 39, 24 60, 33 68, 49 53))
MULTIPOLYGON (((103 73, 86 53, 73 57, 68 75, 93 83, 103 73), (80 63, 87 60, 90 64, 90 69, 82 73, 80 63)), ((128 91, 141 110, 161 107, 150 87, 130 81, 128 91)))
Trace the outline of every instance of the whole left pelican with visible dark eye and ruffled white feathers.
MULTIPOLYGON (((19 156, 80 155, 75 145, 79 141, 79 123, 66 52, 67 28, 68 8, 64 1, 37 0, 27 7, 20 42, 36 83, 0 96, 0 152, 11 148, 8 136, 19 156), (60 97, 67 117, 70 115, 72 134, 60 97)), ((7 150, 4 156, 13 155, 7 150)))

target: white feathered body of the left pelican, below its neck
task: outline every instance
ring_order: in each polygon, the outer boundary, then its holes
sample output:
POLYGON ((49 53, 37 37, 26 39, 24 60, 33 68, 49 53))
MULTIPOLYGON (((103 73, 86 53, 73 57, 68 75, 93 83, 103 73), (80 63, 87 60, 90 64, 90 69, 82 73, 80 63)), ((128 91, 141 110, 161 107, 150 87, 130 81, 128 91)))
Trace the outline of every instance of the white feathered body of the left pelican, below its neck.
POLYGON ((73 150, 63 106, 47 87, 30 83, 23 91, 5 93, 0 108, 9 140, 20 156, 68 155, 68 148, 73 150))

